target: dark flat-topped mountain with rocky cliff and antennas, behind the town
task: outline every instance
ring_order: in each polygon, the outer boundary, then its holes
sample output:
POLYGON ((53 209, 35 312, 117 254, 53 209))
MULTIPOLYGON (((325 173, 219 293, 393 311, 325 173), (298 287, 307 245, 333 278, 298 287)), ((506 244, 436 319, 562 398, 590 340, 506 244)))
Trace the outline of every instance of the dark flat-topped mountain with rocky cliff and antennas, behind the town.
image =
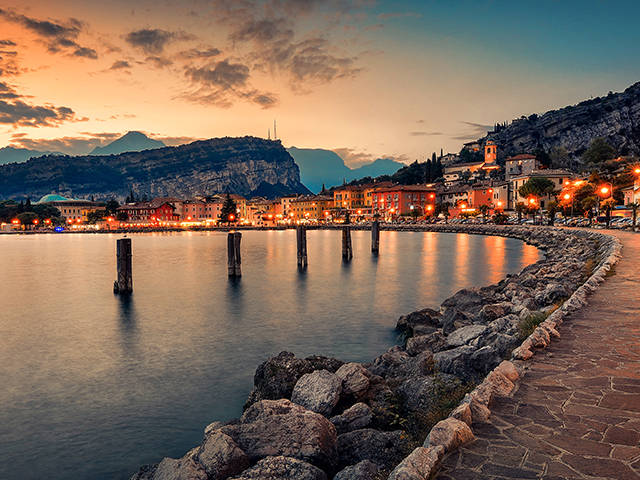
MULTIPOLYGON (((300 170, 280 141, 255 137, 213 138, 112 156, 47 155, 0 166, 0 198, 95 195, 123 199, 191 197, 229 191, 309 193, 300 170)), ((271 196, 271 195, 270 195, 271 196)))

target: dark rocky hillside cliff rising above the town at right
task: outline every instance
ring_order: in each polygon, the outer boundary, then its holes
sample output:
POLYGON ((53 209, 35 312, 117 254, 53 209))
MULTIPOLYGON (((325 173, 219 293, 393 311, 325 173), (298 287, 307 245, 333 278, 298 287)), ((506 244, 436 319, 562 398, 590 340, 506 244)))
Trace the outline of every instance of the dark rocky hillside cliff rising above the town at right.
POLYGON ((606 138, 621 155, 640 154, 640 82, 622 93, 522 117, 480 141, 495 141, 503 158, 553 147, 564 147, 578 157, 598 137, 606 138))

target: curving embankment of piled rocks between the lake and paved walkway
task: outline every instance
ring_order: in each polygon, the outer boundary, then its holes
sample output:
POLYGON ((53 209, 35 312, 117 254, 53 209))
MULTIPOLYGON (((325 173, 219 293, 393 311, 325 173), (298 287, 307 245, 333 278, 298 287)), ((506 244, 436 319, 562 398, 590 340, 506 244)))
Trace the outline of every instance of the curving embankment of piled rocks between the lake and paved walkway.
POLYGON ((579 230, 396 229, 515 237, 545 258, 496 285, 461 290, 438 310, 400 317, 403 345, 371 363, 280 353, 258 367, 242 417, 212 423, 184 457, 132 479, 427 479, 447 452, 474 439, 471 425, 513 391, 522 362, 558 335, 620 250, 611 236, 579 230))

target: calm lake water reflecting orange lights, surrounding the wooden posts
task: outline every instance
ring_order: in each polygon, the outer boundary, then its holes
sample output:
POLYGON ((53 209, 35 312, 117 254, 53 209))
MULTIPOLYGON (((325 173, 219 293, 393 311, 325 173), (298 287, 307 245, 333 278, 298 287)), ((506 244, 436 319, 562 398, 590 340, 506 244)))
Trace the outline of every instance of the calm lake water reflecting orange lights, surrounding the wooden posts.
POLYGON ((226 234, 134 236, 134 294, 112 294, 110 235, 0 236, 0 478, 127 478, 181 456, 216 419, 241 413, 256 366, 281 350, 367 361, 394 344, 399 314, 497 282, 538 259, 517 240, 353 232, 243 233, 226 276, 226 234))

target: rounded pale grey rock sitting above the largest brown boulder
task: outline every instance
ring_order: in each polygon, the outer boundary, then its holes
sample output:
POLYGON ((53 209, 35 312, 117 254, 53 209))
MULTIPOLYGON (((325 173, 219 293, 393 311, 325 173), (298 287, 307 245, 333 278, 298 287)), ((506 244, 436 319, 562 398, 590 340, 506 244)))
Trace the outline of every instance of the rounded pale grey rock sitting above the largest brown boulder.
POLYGON ((291 394, 291 401, 329 416, 342 393, 342 380, 328 370, 316 370, 300 377, 291 394))

